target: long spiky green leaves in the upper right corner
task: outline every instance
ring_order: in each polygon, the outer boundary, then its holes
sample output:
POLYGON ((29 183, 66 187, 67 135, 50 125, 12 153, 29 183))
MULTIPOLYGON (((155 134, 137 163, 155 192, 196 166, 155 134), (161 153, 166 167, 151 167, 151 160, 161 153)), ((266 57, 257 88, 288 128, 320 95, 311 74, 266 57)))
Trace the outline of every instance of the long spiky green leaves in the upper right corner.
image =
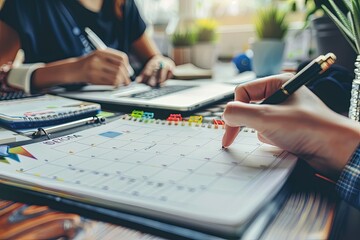
POLYGON ((360 54, 360 2, 359 0, 340 0, 337 4, 329 0, 331 11, 326 5, 322 5, 325 12, 335 22, 351 47, 360 54), (342 11, 338 4, 344 4, 347 8, 347 14, 342 11))

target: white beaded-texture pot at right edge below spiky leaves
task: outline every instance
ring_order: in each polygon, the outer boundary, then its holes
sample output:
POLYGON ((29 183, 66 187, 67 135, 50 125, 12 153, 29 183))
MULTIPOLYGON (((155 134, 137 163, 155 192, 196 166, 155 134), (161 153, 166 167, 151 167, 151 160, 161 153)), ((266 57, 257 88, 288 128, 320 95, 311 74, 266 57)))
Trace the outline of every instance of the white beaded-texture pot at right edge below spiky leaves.
POLYGON ((349 118, 360 122, 360 55, 355 61, 355 79, 351 89, 349 118))

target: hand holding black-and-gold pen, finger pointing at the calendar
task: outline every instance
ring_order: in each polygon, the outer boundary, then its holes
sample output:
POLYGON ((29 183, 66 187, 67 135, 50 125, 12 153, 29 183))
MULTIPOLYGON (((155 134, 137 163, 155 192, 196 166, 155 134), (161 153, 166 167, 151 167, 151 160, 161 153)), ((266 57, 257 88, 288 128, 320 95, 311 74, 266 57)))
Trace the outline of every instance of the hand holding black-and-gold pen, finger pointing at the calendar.
MULTIPOLYGON (((334 60, 333 55, 327 57, 315 60, 304 71, 315 70, 316 66, 311 66, 318 64, 322 70, 318 68, 319 71, 313 72, 318 75, 334 60)), ((327 178, 338 179, 359 144, 360 124, 329 109, 302 86, 307 79, 296 80, 299 78, 295 76, 282 74, 239 85, 235 92, 236 102, 228 103, 223 115, 226 123, 223 146, 232 144, 239 126, 253 128, 262 142, 297 155, 327 178), (285 93, 274 95, 277 91, 285 93), (283 98, 288 93, 290 97, 283 98), (264 98, 268 104, 249 104, 264 98), (271 104, 281 101, 278 105, 271 104)), ((234 147, 241 150, 243 146, 234 147)), ((271 151, 271 148, 264 150, 271 151)))

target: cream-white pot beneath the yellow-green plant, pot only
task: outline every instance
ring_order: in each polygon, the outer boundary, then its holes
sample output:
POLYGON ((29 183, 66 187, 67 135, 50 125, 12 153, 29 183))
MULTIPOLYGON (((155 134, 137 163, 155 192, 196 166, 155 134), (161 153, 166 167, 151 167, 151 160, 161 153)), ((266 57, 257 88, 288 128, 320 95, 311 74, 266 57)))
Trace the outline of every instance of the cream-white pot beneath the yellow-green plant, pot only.
POLYGON ((217 59, 217 45, 198 43, 192 47, 191 60, 199 68, 211 69, 217 59))

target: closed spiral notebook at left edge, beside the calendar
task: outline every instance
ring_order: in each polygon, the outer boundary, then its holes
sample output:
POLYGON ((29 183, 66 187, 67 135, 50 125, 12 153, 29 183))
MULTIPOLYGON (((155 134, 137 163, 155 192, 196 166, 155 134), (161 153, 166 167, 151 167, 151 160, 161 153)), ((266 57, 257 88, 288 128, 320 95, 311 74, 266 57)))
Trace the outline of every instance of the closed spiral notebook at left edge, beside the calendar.
POLYGON ((11 129, 44 127, 95 116, 97 103, 53 95, 0 101, 0 124, 11 129))

